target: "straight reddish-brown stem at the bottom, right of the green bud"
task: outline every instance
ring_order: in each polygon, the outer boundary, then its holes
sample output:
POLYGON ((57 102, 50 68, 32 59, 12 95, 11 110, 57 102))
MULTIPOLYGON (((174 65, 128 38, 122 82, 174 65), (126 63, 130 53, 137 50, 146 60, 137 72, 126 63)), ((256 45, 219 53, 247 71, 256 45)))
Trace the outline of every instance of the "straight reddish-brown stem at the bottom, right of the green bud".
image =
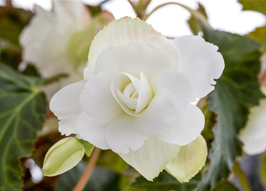
POLYGON ((84 187, 86 186, 88 180, 91 177, 91 174, 93 172, 93 169, 98 161, 98 158, 100 156, 101 149, 95 147, 91 156, 90 156, 90 161, 87 164, 87 167, 85 168, 82 176, 80 177, 80 180, 74 187, 73 191, 82 191, 84 187))

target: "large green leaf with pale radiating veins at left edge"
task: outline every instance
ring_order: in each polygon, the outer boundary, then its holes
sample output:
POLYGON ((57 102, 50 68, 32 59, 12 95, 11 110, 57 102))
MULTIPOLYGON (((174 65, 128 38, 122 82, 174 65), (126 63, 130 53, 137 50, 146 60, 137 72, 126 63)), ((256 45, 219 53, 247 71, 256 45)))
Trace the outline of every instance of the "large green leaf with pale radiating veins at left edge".
POLYGON ((46 114, 46 79, 0 64, 0 190, 21 190, 19 158, 29 156, 46 114))

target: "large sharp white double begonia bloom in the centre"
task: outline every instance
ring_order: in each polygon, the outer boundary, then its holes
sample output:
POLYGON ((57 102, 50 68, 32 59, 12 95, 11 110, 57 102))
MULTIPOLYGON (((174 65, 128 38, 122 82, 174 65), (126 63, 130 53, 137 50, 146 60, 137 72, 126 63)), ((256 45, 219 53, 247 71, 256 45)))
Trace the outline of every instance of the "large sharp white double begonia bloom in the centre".
POLYGON ((91 43, 84 80, 50 102, 59 131, 113 150, 150 181, 177 157, 167 170, 189 181, 207 156, 204 138, 197 139, 204 115, 191 103, 210 93, 223 72, 217 50, 199 36, 169 41, 138 18, 110 22, 91 43), (171 170, 186 156, 194 160, 186 173, 171 170))

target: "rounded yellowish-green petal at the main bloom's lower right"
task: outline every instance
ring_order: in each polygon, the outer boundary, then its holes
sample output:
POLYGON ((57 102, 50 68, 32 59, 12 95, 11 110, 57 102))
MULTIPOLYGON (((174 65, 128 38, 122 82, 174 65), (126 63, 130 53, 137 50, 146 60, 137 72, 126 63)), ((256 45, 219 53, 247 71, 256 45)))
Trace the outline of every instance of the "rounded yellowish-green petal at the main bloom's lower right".
POLYGON ((180 148, 165 170, 180 182, 188 182, 205 165, 207 144, 202 135, 180 148))

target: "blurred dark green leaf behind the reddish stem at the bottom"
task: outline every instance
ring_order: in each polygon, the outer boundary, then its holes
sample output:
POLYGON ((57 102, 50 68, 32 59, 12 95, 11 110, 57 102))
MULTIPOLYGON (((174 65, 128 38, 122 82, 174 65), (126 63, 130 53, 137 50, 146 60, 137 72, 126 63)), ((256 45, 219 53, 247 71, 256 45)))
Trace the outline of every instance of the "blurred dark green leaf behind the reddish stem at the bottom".
MULTIPOLYGON (((80 162, 76 167, 60 175, 56 181, 55 191, 72 191, 82 175, 86 163, 80 162)), ((118 191, 119 174, 104 167, 95 167, 90 180, 83 191, 118 191)))

